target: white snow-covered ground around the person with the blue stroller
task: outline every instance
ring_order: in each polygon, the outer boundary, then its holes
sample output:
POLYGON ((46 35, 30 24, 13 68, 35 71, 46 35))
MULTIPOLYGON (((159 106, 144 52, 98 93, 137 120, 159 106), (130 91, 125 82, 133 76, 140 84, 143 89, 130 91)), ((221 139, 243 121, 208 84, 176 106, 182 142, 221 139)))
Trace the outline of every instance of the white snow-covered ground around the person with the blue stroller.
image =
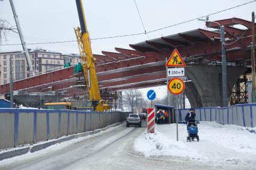
MULTIPOLYGON (((256 128, 251 128, 255 130, 256 128)), ((200 162, 234 162, 256 165, 256 134, 237 125, 216 122, 198 124, 200 141, 186 141, 186 125, 156 125, 156 133, 142 133, 135 139, 136 151, 148 156, 172 156, 200 162)))

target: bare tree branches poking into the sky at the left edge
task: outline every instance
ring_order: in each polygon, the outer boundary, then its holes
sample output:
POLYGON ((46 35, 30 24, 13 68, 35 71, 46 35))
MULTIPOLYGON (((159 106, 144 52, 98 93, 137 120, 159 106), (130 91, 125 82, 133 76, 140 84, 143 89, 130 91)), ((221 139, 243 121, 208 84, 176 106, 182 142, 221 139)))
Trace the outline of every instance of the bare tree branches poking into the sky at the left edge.
POLYGON ((8 23, 7 20, 0 19, 0 43, 2 40, 7 41, 6 35, 10 31, 18 33, 15 26, 10 26, 10 23, 8 23))

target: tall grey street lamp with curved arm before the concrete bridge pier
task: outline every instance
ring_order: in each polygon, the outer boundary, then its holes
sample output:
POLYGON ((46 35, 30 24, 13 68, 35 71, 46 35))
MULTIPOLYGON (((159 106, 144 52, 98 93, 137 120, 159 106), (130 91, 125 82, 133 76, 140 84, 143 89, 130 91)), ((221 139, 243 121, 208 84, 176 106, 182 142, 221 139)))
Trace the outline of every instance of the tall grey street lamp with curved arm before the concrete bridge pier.
POLYGON ((209 17, 206 19, 198 19, 200 21, 217 23, 221 29, 221 66, 222 66, 222 96, 223 96, 223 107, 228 107, 228 95, 227 95, 227 60, 225 51, 225 27, 221 26, 218 22, 209 21, 209 17))

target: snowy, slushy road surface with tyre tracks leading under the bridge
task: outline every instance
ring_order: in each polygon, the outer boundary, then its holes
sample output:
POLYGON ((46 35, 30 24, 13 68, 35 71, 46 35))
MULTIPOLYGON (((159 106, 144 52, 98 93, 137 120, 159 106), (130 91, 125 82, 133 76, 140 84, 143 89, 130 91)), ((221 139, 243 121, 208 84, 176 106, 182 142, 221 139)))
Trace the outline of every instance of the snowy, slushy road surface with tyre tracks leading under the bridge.
MULTIPOLYGON (((87 138, 61 150, 35 154, 0 169, 246 169, 243 165, 197 162, 181 157, 145 157, 134 150, 134 139, 145 132, 126 128, 125 123, 113 130, 87 138)), ((34 153, 32 153, 34 154, 34 153)))

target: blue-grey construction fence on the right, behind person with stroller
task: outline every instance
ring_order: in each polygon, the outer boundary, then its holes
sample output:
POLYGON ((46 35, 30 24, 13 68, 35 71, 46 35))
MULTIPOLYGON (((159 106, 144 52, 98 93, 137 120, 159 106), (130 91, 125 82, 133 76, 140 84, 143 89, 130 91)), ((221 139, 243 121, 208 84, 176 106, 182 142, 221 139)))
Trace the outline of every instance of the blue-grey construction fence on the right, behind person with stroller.
MULTIPOLYGON (((177 110, 178 120, 184 121, 188 109, 177 110)), ((196 120, 218 122, 222 125, 256 126, 256 104, 238 104, 231 107, 195 108, 196 120)))

